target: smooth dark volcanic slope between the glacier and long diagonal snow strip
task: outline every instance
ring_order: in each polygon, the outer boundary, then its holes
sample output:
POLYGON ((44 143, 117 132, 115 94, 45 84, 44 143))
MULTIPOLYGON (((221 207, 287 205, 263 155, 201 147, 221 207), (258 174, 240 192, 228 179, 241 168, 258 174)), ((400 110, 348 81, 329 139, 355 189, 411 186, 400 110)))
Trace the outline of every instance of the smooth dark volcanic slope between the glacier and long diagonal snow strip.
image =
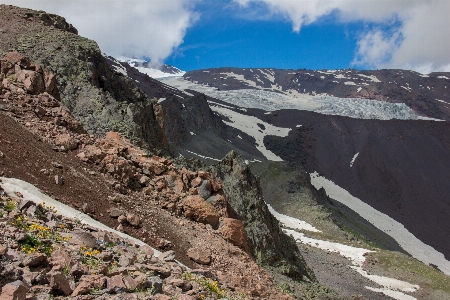
POLYGON ((319 172, 450 258, 448 122, 358 120, 289 110, 259 117, 281 127, 303 125, 287 138, 267 137, 267 148, 319 172))

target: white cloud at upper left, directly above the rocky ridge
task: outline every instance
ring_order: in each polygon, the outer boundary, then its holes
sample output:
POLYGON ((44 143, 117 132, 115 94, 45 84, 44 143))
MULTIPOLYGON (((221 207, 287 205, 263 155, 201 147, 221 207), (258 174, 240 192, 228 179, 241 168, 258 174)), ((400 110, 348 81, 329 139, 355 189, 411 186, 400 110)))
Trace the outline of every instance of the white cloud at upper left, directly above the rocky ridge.
POLYGON ((160 62, 198 18, 190 0, 0 0, 61 15, 109 55, 160 62))

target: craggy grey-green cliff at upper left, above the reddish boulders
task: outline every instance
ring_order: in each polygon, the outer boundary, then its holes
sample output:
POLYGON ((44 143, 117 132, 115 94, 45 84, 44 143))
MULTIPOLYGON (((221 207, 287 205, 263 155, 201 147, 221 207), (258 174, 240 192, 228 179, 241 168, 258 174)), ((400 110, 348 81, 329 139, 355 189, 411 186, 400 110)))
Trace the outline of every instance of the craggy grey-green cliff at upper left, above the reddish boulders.
POLYGON ((57 74, 57 98, 89 133, 119 131, 150 150, 168 150, 154 103, 110 68, 94 41, 55 15, 6 5, 0 14, 0 56, 17 51, 57 74))

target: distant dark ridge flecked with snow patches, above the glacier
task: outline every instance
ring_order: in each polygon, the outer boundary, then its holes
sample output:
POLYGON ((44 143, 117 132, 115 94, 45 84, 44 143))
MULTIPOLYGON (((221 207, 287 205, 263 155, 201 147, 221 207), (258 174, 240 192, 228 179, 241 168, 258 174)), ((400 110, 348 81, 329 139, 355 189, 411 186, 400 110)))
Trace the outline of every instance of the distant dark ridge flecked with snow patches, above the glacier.
POLYGON ((419 115, 450 120, 450 73, 405 70, 312 71, 219 68, 190 71, 190 81, 221 90, 265 89, 405 103, 419 115))

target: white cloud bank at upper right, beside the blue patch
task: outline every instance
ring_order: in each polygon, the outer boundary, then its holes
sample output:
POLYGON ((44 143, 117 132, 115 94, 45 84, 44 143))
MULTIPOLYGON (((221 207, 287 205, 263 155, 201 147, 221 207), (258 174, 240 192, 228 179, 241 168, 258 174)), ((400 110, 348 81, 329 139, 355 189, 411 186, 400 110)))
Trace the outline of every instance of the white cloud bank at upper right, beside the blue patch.
POLYGON ((331 14, 339 22, 370 23, 358 37, 354 66, 450 71, 448 0, 233 1, 244 7, 264 4, 273 15, 288 19, 296 32, 331 14))

